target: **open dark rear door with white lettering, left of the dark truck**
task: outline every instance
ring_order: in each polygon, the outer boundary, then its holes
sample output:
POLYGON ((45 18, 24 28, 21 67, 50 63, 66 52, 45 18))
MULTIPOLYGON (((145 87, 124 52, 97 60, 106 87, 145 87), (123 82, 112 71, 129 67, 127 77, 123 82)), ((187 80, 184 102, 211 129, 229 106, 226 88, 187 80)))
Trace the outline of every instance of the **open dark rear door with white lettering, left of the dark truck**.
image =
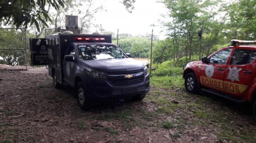
POLYGON ((48 52, 45 38, 30 38, 29 46, 31 50, 32 65, 47 65, 48 52))

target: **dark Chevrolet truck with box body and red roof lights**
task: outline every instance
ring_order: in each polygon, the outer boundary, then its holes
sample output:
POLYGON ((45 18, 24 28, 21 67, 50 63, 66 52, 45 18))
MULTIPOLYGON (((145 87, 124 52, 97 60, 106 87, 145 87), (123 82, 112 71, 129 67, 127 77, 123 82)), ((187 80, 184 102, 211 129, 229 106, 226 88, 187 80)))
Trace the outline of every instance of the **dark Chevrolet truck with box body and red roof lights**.
POLYGON ((149 91, 147 67, 112 44, 111 35, 53 34, 45 41, 54 86, 75 88, 81 109, 102 99, 142 100, 149 91))

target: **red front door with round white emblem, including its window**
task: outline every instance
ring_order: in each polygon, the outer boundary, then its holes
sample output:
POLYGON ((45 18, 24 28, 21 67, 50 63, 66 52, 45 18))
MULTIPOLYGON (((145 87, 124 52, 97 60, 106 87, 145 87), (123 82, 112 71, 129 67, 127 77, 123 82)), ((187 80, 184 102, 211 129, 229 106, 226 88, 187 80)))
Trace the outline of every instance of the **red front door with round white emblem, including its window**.
POLYGON ((209 63, 203 63, 200 70, 200 83, 204 87, 223 91, 224 71, 229 61, 232 48, 225 48, 212 54, 209 63))

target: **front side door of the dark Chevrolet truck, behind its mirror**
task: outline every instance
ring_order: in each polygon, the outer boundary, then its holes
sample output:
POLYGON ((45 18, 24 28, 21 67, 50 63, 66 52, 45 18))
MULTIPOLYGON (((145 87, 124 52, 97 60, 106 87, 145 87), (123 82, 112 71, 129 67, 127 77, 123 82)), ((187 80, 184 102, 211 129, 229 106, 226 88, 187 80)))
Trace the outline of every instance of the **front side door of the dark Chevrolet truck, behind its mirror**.
POLYGON ((73 85, 75 79, 75 71, 76 71, 76 52, 73 45, 69 45, 65 55, 73 56, 74 62, 67 62, 63 60, 63 73, 64 73, 64 80, 73 85))

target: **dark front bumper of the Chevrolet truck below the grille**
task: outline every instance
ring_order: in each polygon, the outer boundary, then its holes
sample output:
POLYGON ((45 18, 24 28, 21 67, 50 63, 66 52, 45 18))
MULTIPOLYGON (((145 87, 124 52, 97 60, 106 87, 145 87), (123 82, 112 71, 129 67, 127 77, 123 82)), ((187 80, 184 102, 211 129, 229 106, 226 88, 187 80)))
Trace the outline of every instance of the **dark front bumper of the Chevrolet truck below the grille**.
POLYGON ((149 74, 143 81, 132 85, 113 85, 109 81, 91 79, 87 84, 87 92, 90 98, 124 99, 135 95, 145 94, 149 91, 149 74))

